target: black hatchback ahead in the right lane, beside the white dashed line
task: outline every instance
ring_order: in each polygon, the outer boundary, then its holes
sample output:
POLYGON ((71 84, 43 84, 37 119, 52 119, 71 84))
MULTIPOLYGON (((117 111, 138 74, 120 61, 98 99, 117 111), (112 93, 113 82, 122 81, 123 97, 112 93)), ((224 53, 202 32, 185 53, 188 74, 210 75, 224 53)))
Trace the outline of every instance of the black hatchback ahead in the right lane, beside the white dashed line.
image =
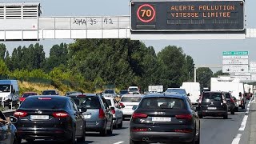
POLYGON ((217 116, 228 118, 228 105, 223 92, 205 91, 198 102, 198 116, 217 116))

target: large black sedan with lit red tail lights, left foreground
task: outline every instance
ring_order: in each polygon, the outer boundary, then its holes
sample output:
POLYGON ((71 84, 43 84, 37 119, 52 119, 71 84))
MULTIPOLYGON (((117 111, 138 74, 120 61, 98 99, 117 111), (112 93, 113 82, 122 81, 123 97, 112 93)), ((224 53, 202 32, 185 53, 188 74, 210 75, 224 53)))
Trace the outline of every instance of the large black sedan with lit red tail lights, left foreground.
MULTIPOLYGON (((86 111, 82 108, 82 111, 86 111)), ((85 141, 86 123, 82 113, 69 97, 30 96, 14 112, 18 143, 22 139, 33 142, 35 139, 63 141, 69 144, 85 141)))

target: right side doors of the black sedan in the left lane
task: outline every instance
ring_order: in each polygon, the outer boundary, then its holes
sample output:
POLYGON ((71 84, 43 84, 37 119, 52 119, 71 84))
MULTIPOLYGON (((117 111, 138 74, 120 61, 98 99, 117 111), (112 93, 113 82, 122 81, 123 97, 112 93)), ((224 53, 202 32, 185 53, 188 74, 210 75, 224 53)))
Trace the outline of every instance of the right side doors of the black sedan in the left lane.
POLYGON ((71 107, 74 110, 74 118, 75 118, 75 123, 76 123, 76 135, 82 135, 84 132, 84 121, 82 118, 82 114, 80 111, 78 111, 78 106, 75 104, 74 100, 70 98, 71 102, 71 107))

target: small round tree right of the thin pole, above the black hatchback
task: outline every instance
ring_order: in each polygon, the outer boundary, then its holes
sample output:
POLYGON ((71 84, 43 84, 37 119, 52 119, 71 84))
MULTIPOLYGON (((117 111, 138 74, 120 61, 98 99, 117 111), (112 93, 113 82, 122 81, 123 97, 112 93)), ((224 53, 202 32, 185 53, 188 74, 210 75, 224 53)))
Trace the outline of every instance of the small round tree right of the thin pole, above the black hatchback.
POLYGON ((199 67, 197 69, 197 82, 201 87, 210 87, 210 78, 213 77, 213 72, 209 67, 199 67))

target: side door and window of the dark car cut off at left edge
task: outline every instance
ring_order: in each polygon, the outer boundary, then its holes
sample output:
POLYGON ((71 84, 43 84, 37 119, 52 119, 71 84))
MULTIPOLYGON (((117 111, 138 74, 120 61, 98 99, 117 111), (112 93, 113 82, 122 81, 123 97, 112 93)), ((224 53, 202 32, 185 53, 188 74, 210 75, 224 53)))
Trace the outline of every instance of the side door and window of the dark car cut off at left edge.
MULTIPOLYGON (((0 111, 0 118, 2 120, 6 120, 2 111, 0 111)), ((0 143, 12 144, 14 141, 14 135, 12 135, 10 130, 11 124, 10 122, 0 122, 0 143)))

